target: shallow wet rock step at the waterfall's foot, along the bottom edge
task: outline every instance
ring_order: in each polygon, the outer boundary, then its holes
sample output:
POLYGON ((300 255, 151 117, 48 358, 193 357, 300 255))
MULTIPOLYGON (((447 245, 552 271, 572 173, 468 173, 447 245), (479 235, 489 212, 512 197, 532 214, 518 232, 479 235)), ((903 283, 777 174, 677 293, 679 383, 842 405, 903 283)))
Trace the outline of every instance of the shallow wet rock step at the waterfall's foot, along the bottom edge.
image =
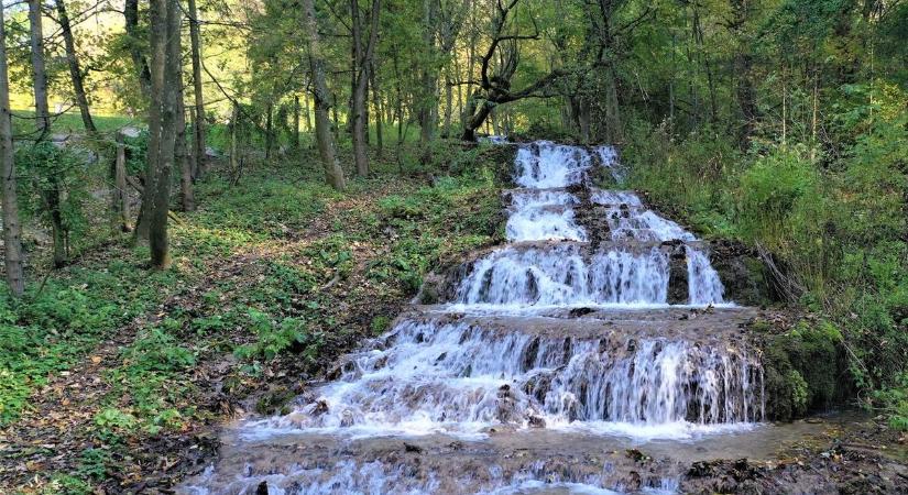
POLYGON ((716 458, 763 463, 784 446, 820 435, 821 425, 756 426, 641 440, 590 433, 490 428, 482 438, 448 435, 352 439, 319 433, 253 435, 229 429, 215 465, 182 494, 283 493, 685 493, 716 458), (264 486, 262 484, 264 483, 264 486), (260 488, 262 487, 262 488, 260 488))

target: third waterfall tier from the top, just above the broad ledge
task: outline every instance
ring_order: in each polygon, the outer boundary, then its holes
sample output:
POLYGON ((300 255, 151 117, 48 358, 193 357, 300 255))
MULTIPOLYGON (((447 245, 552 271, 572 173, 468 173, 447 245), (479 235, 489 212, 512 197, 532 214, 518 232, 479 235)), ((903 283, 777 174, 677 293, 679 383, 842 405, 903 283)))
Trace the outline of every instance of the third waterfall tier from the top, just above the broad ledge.
MULTIPOLYGON (((565 295, 562 298, 567 299, 558 300, 558 304, 570 304, 582 297, 593 297, 591 300, 597 300, 598 297, 602 302, 648 301, 685 305, 692 299, 689 250, 700 253, 705 260, 709 243, 635 239, 599 243, 514 242, 505 246, 477 251, 459 265, 440 274, 427 276, 417 301, 494 304, 507 300, 536 304, 538 300, 539 304, 545 304, 545 300, 562 297, 554 293, 541 294, 548 289, 538 287, 539 277, 547 277, 558 284, 573 287, 571 290, 576 294, 565 295), (502 280, 496 285, 489 278, 496 270, 511 272, 511 277, 524 279, 502 280), (620 278, 612 279, 615 276, 620 278)), ((693 275, 710 276, 702 272, 693 275)), ((721 279, 721 273, 719 277, 721 279)), ((728 296, 731 297, 725 297, 724 300, 735 300, 734 293, 728 296)))

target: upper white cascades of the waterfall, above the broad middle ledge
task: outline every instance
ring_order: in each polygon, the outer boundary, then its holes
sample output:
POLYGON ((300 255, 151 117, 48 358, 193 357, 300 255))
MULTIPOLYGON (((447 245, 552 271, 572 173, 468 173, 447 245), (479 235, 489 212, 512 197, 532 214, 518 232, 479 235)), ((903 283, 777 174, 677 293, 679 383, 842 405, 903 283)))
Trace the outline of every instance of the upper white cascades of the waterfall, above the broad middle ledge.
MULTIPOLYGON (((513 245, 478 261, 457 290, 457 302, 499 306, 665 305, 668 297, 668 241, 697 238, 646 209, 631 191, 588 188, 590 202, 604 209, 611 243, 593 251, 588 232, 576 221, 579 198, 567 190, 586 185, 594 155, 615 179, 623 170, 610 146, 583 147, 541 141, 517 151, 510 194, 507 240, 569 241, 513 245)), ((689 302, 724 302, 722 283, 699 248, 685 248, 689 302)))

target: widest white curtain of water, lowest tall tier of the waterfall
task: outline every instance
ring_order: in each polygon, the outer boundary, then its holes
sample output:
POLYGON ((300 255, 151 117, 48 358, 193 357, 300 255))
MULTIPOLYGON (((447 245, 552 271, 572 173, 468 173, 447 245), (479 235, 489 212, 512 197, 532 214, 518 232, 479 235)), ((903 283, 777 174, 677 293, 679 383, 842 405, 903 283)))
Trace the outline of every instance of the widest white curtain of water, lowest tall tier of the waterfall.
POLYGON ((666 339, 513 330, 404 320, 382 340, 384 350, 352 355, 318 400, 247 428, 470 435, 541 419, 571 428, 600 422, 590 432, 689 438, 702 426, 762 417, 762 375, 746 354, 666 339))

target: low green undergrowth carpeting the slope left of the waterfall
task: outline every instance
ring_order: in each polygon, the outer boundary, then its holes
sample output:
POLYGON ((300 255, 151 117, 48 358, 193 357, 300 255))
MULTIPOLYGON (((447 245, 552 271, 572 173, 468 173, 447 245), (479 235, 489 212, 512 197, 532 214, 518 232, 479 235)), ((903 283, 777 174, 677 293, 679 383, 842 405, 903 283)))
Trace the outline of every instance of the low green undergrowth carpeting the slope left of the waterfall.
MULTIPOLYGON (((387 330, 427 271, 497 242, 488 160, 480 148, 445 162, 375 162, 380 172, 347 193, 326 187, 313 162, 259 164, 237 184, 209 176, 197 188, 200 210, 172 224, 172 270, 150 272, 147 250, 123 234, 32 278, 20 301, 0 295, 0 427, 39 407, 55 376, 97 364, 105 392, 81 406, 90 417, 78 427, 94 446, 72 453, 72 470, 45 473, 46 487, 90 493, 114 473, 138 476, 130 451, 220 414, 204 406, 212 385, 199 370, 228 363, 218 373, 237 396, 256 393, 277 367, 311 376, 387 330), (128 326, 134 338, 96 363, 128 326)), ((107 223, 89 223, 109 235, 107 223)), ((260 403, 276 410, 292 396, 260 403)))

